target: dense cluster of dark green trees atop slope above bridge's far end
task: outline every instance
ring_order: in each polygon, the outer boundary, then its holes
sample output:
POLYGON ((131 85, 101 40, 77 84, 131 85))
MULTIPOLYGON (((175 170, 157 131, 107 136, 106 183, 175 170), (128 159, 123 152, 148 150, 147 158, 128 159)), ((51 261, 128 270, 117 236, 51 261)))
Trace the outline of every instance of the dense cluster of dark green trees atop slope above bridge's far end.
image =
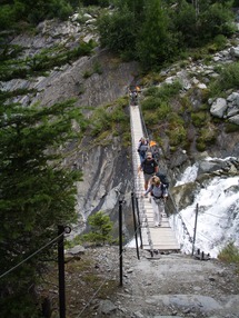
POLYGON ((235 30, 232 1, 116 0, 114 4, 99 22, 101 46, 138 60, 145 70, 235 30))

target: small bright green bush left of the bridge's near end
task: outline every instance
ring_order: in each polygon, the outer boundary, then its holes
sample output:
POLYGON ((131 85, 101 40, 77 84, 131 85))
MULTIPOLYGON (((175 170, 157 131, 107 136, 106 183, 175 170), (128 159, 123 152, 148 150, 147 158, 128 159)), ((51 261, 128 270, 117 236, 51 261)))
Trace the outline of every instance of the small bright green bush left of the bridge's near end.
POLYGON ((112 231, 113 222, 110 221, 109 216, 106 216, 102 211, 98 211, 88 218, 88 222, 91 227, 91 231, 83 235, 83 240, 92 241, 94 244, 112 241, 112 236, 110 232, 112 231))

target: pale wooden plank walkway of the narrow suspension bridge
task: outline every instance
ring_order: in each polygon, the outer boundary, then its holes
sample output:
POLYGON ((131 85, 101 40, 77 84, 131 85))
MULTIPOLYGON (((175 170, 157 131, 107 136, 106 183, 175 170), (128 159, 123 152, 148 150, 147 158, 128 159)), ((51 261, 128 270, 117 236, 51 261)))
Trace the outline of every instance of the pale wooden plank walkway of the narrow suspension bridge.
POLYGON ((149 198, 142 198, 143 193, 143 173, 138 173, 140 158, 137 147, 140 138, 143 136, 140 110, 138 106, 130 106, 130 123, 132 138, 132 161, 135 176, 135 192, 139 202, 139 216, 141 223, 142 248, 147 250, 159 250, 160 252, 179 251, 180 247, 176 240, 173 230, 169 225, 166 213, 162 213, 161 227, 155 227, 153 210, 149 198))

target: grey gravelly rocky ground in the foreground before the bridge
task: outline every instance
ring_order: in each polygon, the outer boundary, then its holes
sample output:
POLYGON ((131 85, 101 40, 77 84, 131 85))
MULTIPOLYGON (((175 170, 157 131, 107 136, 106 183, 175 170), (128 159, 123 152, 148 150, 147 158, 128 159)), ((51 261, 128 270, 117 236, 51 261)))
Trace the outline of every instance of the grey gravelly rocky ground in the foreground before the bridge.
POLYGON ((143 250, 139 257, 133 248, 123 250, 120 286, 118 247, 69 251, 67 316, 239 318, 239 276, 233 266, 185 255, 150 258, 143 250), (83 269, 87 260, 90 266, 83 269))

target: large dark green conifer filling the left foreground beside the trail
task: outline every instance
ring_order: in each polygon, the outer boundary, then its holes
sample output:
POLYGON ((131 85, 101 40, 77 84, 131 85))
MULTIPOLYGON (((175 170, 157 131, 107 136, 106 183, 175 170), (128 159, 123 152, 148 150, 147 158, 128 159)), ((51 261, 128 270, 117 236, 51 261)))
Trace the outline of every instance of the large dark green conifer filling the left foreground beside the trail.
POLYGON ((80 138, 72 119, 81 126, 83 118, 73 100, 26 108, 7 96, 0 93, 0 316, 32 318, 32 291, 56 245, 24 259, 57 237, 58 225, 77 220, 74 182, 82 175, 62 160, 80 138))

